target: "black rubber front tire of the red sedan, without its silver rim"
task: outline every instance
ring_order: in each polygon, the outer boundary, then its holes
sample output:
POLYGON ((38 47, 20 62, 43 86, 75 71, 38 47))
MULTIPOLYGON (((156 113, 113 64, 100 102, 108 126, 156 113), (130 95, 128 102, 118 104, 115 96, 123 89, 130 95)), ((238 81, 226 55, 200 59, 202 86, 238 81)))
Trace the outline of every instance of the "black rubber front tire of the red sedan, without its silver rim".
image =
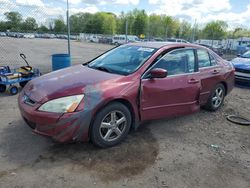
POLYGON ((97 115, 95 116, 92 127, 91 127, 90 139, 94 145, 101 147, 101 148, 111 147, 111 146, 114 146, 116 144, 119 144, 128 135, 130 127, 131 127, 131 122, 132 122, 132 118, 131 118, 131 113, 130 113, 129 109, 125 105, 123 105, 122 103, 113 102, 113 103, 105 106, 103 109, 101 109, 97 113, 97 115), (107 142, 107 141, 103 140, 103 138, 101 137, 101 135, 99 133, 99 128, 101 126, 101 122, 102 122, 103 118, 108 113, 110 113, 111 111, 114 111, 114 110, 121 111, 125 115, 126 120, 127 120, 127 126, 126 126, 126 130, 123 132, 123 134, 121 135, 120 138, 118 138, 117 140, 114 140, 112 142, 107 142))

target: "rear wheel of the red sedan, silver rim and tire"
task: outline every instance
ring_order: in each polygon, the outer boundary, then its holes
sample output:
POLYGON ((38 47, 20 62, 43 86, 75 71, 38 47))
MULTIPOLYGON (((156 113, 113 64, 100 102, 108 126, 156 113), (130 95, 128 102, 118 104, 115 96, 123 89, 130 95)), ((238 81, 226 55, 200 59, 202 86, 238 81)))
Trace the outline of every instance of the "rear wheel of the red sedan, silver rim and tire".
POLYGON ((207 104, 204 106, 209 111, 218 110, 224 102, 226 90, 223 84, 217 84, 215 89, 211 92, 207 104))

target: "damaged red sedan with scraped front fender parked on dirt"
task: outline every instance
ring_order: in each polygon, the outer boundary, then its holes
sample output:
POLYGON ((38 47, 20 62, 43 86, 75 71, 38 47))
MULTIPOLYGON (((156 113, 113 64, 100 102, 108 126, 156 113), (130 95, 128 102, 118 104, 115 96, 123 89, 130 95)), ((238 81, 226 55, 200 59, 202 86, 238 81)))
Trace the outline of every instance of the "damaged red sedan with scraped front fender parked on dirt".
POLYGON ((18 101, 36 133, 110 147, 143 121, 216 111, 233 85, 232 64, 205 47, 145 42, 36 78, 18 101))

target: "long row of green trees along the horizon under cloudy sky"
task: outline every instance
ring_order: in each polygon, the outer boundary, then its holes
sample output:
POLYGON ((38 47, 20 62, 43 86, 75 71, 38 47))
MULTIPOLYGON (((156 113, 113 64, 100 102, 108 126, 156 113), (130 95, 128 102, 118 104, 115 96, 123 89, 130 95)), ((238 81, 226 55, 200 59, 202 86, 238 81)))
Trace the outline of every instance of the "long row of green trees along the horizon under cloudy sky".
MULTIPOLYGON (((37 21, 28 17, 23 19, 19 12, 4 13, 6 21, 0 21, 0 31, 16 32, 50 32, 66 33, 67 27, 62 16, 49 20, 46 24, 38 25, 37 21)), ((92 34, 125 34, 146 36, 147 38, 183 38, 186 40, 197 39, 223 39, 250 37, 250 30, 236 28, 228 31, 224 21, 211 21, 204 26, 191 24, 187 21, 167 15, 148 15, 145 10, 134 9, 128 13, 121 12, 119 16, 110 12, 97 12, 94 14, 79 12, 70 16, 71 32, 92 34)))

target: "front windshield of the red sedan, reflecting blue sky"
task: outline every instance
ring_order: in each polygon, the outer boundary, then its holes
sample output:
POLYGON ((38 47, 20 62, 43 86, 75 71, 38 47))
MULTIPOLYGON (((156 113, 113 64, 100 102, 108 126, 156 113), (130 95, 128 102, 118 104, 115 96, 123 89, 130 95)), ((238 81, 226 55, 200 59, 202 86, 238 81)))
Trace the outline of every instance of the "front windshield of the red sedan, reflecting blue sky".
POLYGON ((114 48, 88 64, 88 67, 109 73, 129 75, 141 67, 155 48, 125 45, 114 48))

